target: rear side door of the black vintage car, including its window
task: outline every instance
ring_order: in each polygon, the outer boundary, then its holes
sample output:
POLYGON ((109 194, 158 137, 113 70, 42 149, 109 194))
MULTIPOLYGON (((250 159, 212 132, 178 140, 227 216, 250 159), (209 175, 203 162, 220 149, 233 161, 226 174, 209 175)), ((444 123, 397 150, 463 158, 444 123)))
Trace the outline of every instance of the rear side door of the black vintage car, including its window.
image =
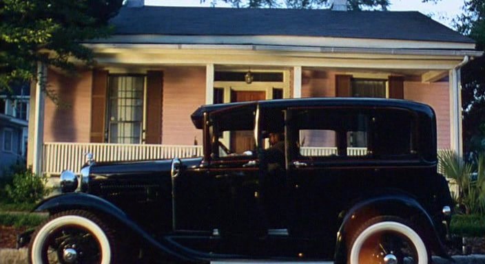
POLYGON ((333 234, 328 242, 335 242, 339 214, 351 190, 355 190, 352 184, 359 182, 349 176, 362 175, 347 160, 347 141, 349 131, 355 130, 350 125, 354 119, 349 109, 289 109, 288 177, 296 212, 291 221, 293 234, 333 234))

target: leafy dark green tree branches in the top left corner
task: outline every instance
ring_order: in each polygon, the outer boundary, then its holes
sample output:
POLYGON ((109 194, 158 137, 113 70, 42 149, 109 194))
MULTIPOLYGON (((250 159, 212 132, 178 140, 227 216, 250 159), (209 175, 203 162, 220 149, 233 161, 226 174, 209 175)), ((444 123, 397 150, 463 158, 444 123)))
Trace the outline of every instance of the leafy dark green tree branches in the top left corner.
POLYGON ((81 41, 108 36, 123 0, 0 0, 0 92, 36 77, 37 62, 74 69, 92 63, 81 41))

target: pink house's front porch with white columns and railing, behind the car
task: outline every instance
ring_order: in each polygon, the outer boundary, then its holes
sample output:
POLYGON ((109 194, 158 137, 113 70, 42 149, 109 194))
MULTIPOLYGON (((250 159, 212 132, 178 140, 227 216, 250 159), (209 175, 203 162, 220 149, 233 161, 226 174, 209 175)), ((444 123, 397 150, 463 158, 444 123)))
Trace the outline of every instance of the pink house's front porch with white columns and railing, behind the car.
MULTIPOLYGON (((348 54, 289 47, 258 50, 259 46, 234 54, 234 47, 174 50, 167 45, 146 53, 141 47, 96 46, 99 67, 79 69, 76 76, 39 65, 40 78, 70 107, 45 100, 41 83, 32 85, 28 165, 34 172, 77 172, 87 152, 99 162, 200 156, 202 146, 194 144, 202 133, 189 118, 194 109, 201 104, 279 98, 423 102, 437 115, 437 148, 458 153, 462 149, 458 80, 460 65, 468 60, 463 54, 348 54)), ((362 151, 351 147, 349 155, 362 151)))

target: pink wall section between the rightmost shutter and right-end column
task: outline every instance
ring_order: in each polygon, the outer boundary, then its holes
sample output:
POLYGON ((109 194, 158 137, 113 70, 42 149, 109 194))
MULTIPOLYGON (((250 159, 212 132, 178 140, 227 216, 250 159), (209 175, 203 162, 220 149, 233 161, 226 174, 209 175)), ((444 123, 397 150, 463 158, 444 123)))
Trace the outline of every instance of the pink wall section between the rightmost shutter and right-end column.
POLYGON ((404 82, 404 98, 431 105, 436 112, 438 148, 450 148, 448 83, 404 82))

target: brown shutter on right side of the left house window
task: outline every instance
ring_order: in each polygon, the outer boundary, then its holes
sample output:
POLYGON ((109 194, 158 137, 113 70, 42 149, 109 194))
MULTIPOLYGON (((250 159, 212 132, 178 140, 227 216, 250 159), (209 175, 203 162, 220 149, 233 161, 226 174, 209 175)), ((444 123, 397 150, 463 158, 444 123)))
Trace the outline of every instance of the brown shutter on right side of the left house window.
POLYGON ((147 125, 145 143, 162 143, 163 72, 147 72, 147 125))

